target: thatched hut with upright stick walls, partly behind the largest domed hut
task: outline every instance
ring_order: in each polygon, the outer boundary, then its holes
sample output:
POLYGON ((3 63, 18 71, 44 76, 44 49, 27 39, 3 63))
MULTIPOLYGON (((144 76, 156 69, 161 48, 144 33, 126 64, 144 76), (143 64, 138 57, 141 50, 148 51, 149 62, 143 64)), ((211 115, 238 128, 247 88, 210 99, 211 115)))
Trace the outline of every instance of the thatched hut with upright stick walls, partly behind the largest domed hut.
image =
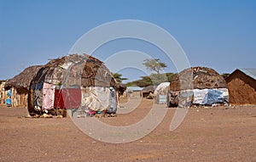
POLYGON ((13 107, 26 107, 27 93, 30 81, 40 69, 40 65, 34 65, 23 70, 19 75, 8 80, 4 84, 5 91, 11 91, 11 103, 13 107))

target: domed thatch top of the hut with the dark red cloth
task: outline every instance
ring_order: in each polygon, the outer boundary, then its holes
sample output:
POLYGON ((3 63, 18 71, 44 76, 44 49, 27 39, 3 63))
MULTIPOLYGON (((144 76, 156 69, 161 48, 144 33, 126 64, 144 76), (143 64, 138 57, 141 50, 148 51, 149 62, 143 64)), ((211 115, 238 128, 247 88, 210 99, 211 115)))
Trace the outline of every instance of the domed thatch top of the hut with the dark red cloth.
MULTIPOLYGON (((45 82, 66 87, 115 87, 117 83, 102 61, 87 54, 70 54, 52 59, 41 70, 45 74, 45 82)), ((39 81, 40 77, 38 74, 34 81, 39 81)))

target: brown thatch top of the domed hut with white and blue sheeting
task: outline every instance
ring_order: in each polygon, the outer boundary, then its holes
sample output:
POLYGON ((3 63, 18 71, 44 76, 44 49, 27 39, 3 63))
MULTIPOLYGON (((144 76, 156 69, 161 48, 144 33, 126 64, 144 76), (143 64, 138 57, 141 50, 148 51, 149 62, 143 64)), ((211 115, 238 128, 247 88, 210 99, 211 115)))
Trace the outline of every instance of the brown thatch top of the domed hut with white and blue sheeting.
POLYGON ((211 68, 201 66, 181 71, 170 84, 171 91, 223 87, 227 87, 227 84, 222 75, 211 68))

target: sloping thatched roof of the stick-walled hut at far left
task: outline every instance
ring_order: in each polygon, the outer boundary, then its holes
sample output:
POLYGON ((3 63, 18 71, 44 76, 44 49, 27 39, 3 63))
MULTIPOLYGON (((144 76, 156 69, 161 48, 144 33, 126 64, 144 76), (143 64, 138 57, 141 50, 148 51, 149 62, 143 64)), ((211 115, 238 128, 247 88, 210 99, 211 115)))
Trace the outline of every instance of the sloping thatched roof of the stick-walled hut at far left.
POLYGON ((41 65, 35 65, 26 68, 19 75, 15 75, 14 78, 7 81, 4 88, 8 90, 11 87, 15 87, 16 89, 23 89, 28 92, 30 81, 32 81, 33 76, 38 73, 41 67, 41 65))

